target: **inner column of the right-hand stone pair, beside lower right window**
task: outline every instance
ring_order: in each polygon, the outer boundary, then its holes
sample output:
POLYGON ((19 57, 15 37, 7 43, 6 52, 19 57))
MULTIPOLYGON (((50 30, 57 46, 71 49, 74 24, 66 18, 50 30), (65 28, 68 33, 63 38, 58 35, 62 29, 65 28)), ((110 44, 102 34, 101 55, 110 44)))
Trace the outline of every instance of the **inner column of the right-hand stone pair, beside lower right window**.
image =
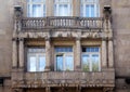
POLYGON ((102 40, 102 67, 107 67, 106 39, 102 40))

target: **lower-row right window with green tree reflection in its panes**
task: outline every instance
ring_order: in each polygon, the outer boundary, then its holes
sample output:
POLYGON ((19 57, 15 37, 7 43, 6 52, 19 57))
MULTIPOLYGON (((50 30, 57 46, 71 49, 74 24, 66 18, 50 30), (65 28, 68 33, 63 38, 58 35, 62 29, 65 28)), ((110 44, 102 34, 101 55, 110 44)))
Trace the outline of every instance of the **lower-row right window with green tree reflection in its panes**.
POLYGON ((82 48, 82 70, 83 71, 100 71, 100 48, 99 47, 84 47, 82 48))

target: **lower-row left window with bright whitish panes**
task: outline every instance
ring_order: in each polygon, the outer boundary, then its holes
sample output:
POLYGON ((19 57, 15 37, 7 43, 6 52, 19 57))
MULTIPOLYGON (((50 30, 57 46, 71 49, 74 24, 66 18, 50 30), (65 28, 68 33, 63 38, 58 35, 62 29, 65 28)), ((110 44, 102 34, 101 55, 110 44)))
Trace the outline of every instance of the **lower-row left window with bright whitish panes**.
POLYGON ((30 48, 27 51, 27 70, 44 71, 46 54, 42 48, 30 48))

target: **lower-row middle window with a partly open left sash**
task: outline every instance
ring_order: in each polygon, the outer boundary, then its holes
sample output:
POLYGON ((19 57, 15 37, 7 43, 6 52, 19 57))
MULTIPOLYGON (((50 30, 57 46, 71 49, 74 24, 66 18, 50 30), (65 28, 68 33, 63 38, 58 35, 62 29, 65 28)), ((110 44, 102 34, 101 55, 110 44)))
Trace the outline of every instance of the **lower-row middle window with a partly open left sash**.
POLYGON ((74 57, 72 47, 55 48, 55 70, 74 70, 74 57))

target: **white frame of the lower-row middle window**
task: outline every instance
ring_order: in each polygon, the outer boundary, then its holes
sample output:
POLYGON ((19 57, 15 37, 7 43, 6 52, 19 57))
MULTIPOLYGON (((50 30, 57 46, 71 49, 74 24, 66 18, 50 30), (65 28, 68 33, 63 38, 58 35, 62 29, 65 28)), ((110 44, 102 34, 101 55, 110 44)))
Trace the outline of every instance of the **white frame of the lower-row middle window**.
MULTIPOLYGON (((58 48, 58 47, 55 47, 58 48)), ((72 52, 56 52, 54 48, 54 70, 55 71, 74 71, 74 49, 73 47, 70 47, 73 49, 72 52), (63 56, 63 70, 57 70, 57 61, 56 61, 56 56, 62 55, 63 56), (73 70, 65 70, 66 69, 66 56, 72 56, 73 57, 73 70)), ((60 48, 66 48, 66 47, 60 47, 60 48)))

